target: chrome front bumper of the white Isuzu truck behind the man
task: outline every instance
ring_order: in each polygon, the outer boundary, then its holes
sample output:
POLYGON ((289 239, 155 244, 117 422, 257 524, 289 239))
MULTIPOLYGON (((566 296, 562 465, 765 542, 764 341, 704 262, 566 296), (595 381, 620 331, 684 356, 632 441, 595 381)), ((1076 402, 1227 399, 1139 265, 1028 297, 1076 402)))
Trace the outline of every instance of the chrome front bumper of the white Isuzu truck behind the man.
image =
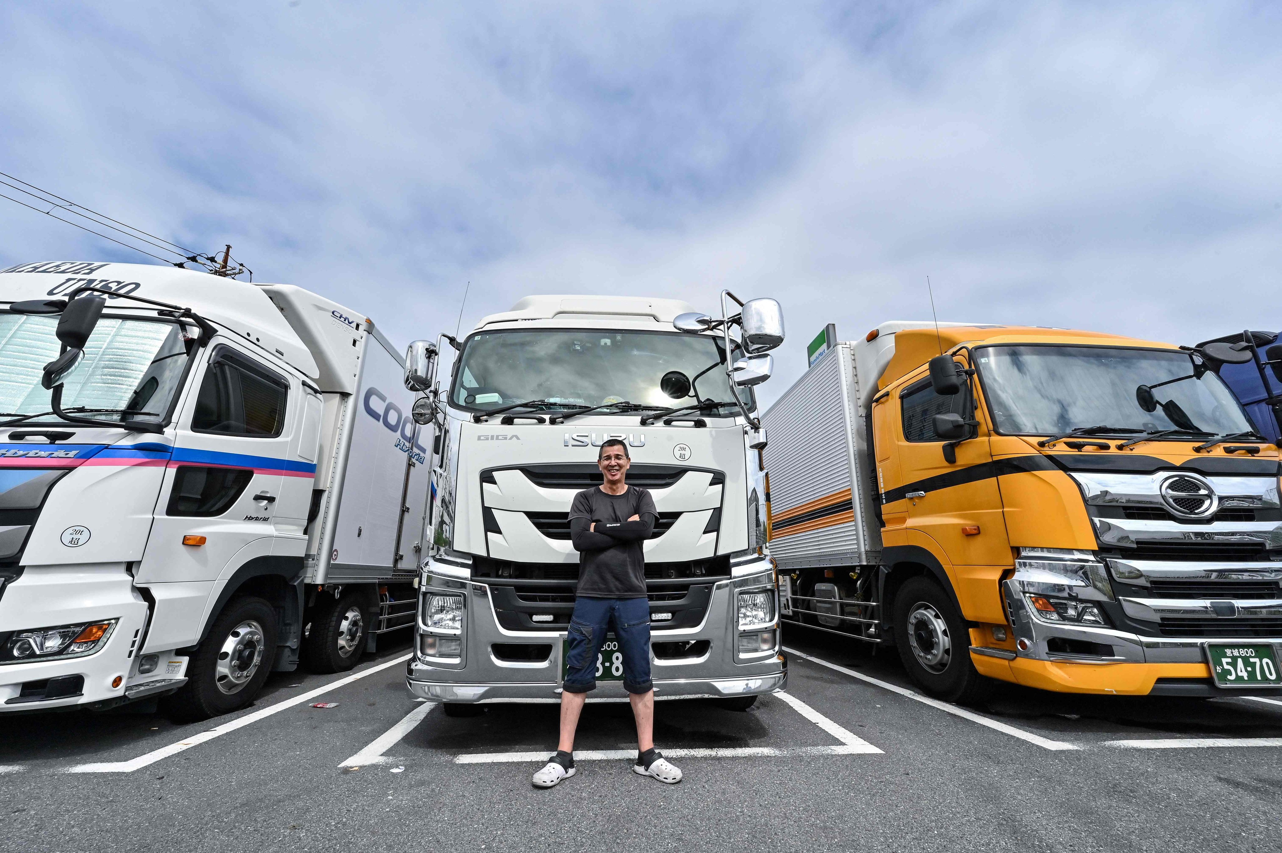
MULTIPOLYGON (((755 695, 782 690, 787 681, 787 664, 776 646, 745 661, 736 654, 735 591, 773 584, 768 562, 737 568, 731 580, 718 581, 703 622, 692 629, 655 630, 651 643, 708 640, 709 649, 697 658, 662 659, 651 654, 651 677, 655 699, 694 699, 755 695), (767 580, 769 579, 769 580, 767 580)), ((509 631, 499 625, 490 587, 485 581, 465 577, 458 570, 429 564, 420 576, 420 594, 431 591, 464 595, 463 654, 450 663, 426 659, 419 654, 419 636, 427 632, 419 622, 415 629, 414 657, 406 666, 406 685, 415 697, 433 702, 560 702, 562 640, 565 631, 509 631), (540 662, 500 661, 491 645, 551 644, 551 655, 540 662)), ((420 599, 422 600, 422 599, 420 599)), ((778 602, 776 600, 776 617, 778 602)), ((755 629, 754 629, 755 630, 755 629)), ((776 630, 778 621, 776 618, 776 630)), ((627 702, 620 681, 597 681, 588 702, 627 702)))

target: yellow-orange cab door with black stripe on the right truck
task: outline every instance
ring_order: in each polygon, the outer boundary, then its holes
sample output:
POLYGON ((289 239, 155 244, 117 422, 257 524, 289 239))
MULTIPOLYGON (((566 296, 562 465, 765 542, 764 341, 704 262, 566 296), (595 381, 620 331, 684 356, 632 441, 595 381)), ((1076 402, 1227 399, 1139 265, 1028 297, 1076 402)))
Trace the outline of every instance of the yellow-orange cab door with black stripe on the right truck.
POLYGON ((935 540, 953 566, 1008 566, 1010 546, 983 412, 965 410, 970 395, 964 390, 936 394, 924 371, 897 396, 899 494, 906 499, 906 526, 935 540), (956 445, 951 464, 944 459, 944 439, 935 434, 935 416, 946 412, 979 421, 978 436, 956 445))

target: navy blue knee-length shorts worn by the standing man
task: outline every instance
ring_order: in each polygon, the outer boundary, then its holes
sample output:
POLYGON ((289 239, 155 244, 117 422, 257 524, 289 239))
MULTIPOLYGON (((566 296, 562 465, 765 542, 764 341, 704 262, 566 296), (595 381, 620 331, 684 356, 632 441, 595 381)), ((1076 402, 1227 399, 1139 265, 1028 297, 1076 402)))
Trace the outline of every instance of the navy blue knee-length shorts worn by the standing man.
POLYGON ((569 620, 565 658, 567 693, 596 689, 596 655, 606 631, 614 631, 623 653, 623 689, 654 690, 650 680, 650 602, 644 598, 578 598, 569 620))

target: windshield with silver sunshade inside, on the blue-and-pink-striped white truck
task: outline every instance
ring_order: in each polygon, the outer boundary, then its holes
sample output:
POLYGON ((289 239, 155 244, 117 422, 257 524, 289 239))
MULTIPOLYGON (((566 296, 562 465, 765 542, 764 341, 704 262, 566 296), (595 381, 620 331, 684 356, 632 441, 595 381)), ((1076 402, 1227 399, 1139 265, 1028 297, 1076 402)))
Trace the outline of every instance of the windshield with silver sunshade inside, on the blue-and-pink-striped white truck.
MULTIPOLYGON (((58 317, 0 313, 0 412, 49 412, 50 393, 40 384, 45 364, 62 349, 58 317)), ((85 346, 85 357, 63 385, 63 409, 85 407, 95 419, 118 421, 109 409, 131 409, 164 418, 187 366, 187 341, 178 323, 104 317, 85 346), (99 413, 99 410, 103 410, 99 413)), ((3 416, 0 416, 3 417, 3 416)), ((49 414, 27 423, 56 421, 49 414)))

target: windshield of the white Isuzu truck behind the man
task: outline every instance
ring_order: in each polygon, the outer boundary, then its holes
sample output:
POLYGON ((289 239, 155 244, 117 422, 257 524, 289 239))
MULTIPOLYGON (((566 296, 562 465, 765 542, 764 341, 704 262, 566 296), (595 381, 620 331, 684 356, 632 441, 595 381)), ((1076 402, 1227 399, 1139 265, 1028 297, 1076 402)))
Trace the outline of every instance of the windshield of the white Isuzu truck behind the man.
MULTIPOLYGON (((679 332, 479 332, 463 350, 450 399, 478 412, 523 400, 541 400, 546 408, 623 401, 668 408, 697 400, 733 407, 723 351, 718 337, 679 332), (673 398, 660 387, 673 371, 691 380, 691 396, 673 398)), ((740 390, 740 396, 751 408, 747 389, 740 390)))

